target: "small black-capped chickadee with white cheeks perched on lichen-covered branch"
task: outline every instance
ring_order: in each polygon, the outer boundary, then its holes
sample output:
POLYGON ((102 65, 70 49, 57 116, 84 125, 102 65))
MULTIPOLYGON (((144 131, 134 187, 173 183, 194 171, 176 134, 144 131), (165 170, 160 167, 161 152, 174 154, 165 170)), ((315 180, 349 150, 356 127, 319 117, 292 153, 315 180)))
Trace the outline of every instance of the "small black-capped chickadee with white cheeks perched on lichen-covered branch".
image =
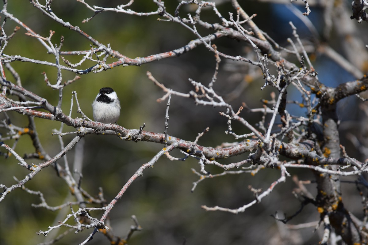
POLYGON ((112 88, 102 88, 92 103, 93 118, 102 123, 116 123, 120 116, 120 101, 112 88))

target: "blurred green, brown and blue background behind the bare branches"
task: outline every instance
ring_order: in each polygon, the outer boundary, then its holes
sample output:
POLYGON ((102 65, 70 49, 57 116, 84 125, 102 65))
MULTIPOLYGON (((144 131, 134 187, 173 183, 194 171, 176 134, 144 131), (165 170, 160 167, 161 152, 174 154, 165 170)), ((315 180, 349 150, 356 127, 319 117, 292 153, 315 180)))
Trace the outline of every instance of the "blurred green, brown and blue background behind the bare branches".
MULTIPOLYGON (((228 18, 228 12, 234 12, 230 1, 216 2, 218 10, 225 18, 228 18)), ((101 7, 115 7, 122 3, 127 3, 127 1, 111 0, 103 1, 103 3, 97 0, 88 1, 90 6, 101 7)), ((166 1, 167 11, 173 14, 178 3, 179 1, 166 1)), ((319 50, 323 45, 334 48, 337 53, 353 62, 358 70, 367 72, 367 51, 364 50, 364 45, 357 47, 363 50, 360 52, 360 59, 357 56, 354 59, 350 58, 349 53, 346 53, 348 49, 344 46, 348 39, 346 36, 346 38, 341 38, 342 34, 339 33, 339 28, 342 27, 332 24, 329 26, 329 22, 326 21, 326 18, 334 20, 338 16, 345 16, 344 14, 350 17, 351 7, 347 1, 341 1, 337 3, 339 6, 332 7, 332 1, 324 1, 324 3, 312 1, 309 3, 312 6, 312 12, 308 17, 303 16, 307 19, 304 22, 295 14, 296 10, 305 11, 305 6, 296 5, 301 4, 302 1, 295 2, 292 6, 265 0, 244 0, 239 3, 248 15, 257 14, 253 19, 255 24, 281 46, 289 45, 287 38, 293 38, 289 25, 289 21, 292 21, 305 47, 309 48, 310 58, 320 81, 327 86, 335 87, 340 83, 354 80, 356 77, 319 50), (310 28, 311 26, 314 29, 310 28), (326 30, 327 28, 329 29, 326 30)), ((137 12, 150 12, 157 9, 153 2, 143 0, 135 1, 130 8, 137 12)), ((78 1, 54 1, 52 9, 59 18, 74 26, 79 26, 94 39, 105 45, 109 43, 112 49, 130 58, 170 51, 183 47, 197 38, 188 29, 178 24, 158 21, 157 15, 139 17, 102 12, 90 21, 82 23, 94 13, 78 1)), ((180 16, 186 17, 187 12, 194 15, 195 10, 195 5, 182 7, 180 16)), ((41 14, 32 4, 9 1, 7 11, 41 36, 49 36, 49 30, 55 31, 52 37, 54 44, 59 45, 60 37, 64 36, 62 51, 90 49, 88 40, 55 23, 41 14)), ((219 22, 210 7, 202 11, 201 17, 209 23, 219 22)), ((1 16, 1 21, 4 21, 3 16, 1 16)), ((367 43, 366 23, 358 25, 356 20, 350 20, 350 18, 344 21, 353 26, 350 33, 351 39, 361 40, 362 44, 367 43)), ((15 26, 17 24, 8 19, 4 30, 9 35, 15 26)), ((201 28, 198 30, 202 36, 212 33, 201 28)), ((47 54, 38 40, 24 35, 24 32, 24 29, 20 29, 15 34, 8 42, 4 54, 55 62, 54 57, 47 54)), ((223 53, 255 59, 254 52, 245 43, 222 38, 216 40, 215 44, 223 53)), ((65 56, 65 58, 72 63, 77 63, 81 56, 65 56)), ((107 62, 113 61, 116 59, 111 58, 107 62)), ((290 58, 290 61, 299 64, 295 58, 290 58)), ((112 87, 118 94, 122 107, 121 116, 117 122, 119 125, 128 129, 139 129, 139 126, 145 123, 145 130, 163 133, 166 102, 158 103, 156 99, 162 97, 164 93, 146 77, 146 71, 150 71, 167 88, 188 93, 193 90, 188 79, 208 84, 215 71, 215 64, 213 53, 204 46, 199 46, 180 57, 163 59, 139 67, 119 66, 109 71, 81 75, 81 79, 64 88, 62 109, 64 113, 68 113, 72 91, 76 91, 82 111, 89 118, 93 118, 91 104, 99 89, 112 87)), ((46 86, 41 74, 46 72, 50 82, 55 84, 56 68, 18 61, 12 62, 11 65, 19 73, 22 85, 26 89, 46 98, 54 105, 57 104, 58 91, 46 86)), ((92 62, 87 61, 80 69, 86 69, 92 65, 94 65, 92 62)), ((9 72, 6 71, 6 75, 8 80, 14 82, 9 72)), ((67 71, 62 71, 62 75, 65 82, 75 76, 74 73, 67 71)), ((260 69, 241 62, 222 59, 214 88, 233 108, 240 107, 243 102, 249 108, 261 108, 261 99, 269 100, 270 93, 275 92, 269 86, 261 91, 260 87, 263 84, 260 69)), ((302 102, 297 90, 289 91, 288 99, 302 102)), ((359 134, 361 138, 364 138, 366 134, 364 122, 367 118, 365 116, 367 110, 359 103, 357 98, 352 97, 339 104, 339 116, 342 120, 341 140, 342 144, 350 146, 347 147, 348 155, 364 161, 368 158, 364 149, 357 149, 349 140, 349 135, 351 137, 351 135, 359 134)), ((306 110, 296 104, 289 104, 287 109, 292 115, 305 116, 306 110)), ((190 99, 173 96, 170 104, 168 133, 171 136, 194 141, 198 133, 209 127, 209 133, 199 140, 200 145, 216 147, 223 142, 234 142, 236 140, 233 137, 224 133, 227 130, 227 120, 219 115, 220 111, 223 111, 223 108, 196 106, 190 99)), ((252 125, 259 122, 262 117, 261 113, 251 114, 246 111, 242 112, 242 115, 252 125)), ((28 124, 28 120, 16 112, 8 112, 8 116, 14 125, 25 127, 28 124)), ((81 117, 80 114, 77 114, 75 105, 72 117, 81 117)), ((1 114, 0 119, 4 119, 1 114)), ((60 122, 39 118, 35 118, 35 122, 43 147, 51 156, 57 154, 60 151, 59 139, 57 136, 51 136, 51 133, 53 129, 60 128, 60 122)), ((249 133, 236 122, 232 126, 237 134, 249 133)), ((64 131, 74 131, 74 128, 64 126, 64 131)), ((1 133, 5 132, 1 131, 1 133)), ((74 136, 64 136, 64 144, 67 144, 72 137, 74 136)), ((361 139, 357 138, 357 140, 361 139)), ((14 141, 6 142, 10 146, 13 143, 14 141)), ((162 147, 163 145, 148 142, 124 141, 114 136, 88 135, 84 138, 82 154, 79 151, 75 153, 74 149, 67 154, 67 158, 72 167, 75 154, 83 157, 82 187, 91 195, 97 195, 98 188, 102 187, 105 199, 110 202, 135 171, 148 162, 162 147)), ((33 152, 29 137, 22 137, 15 150, 21 156, 33 152)), ((4 149, 1 152, 4 152, 4 149)), ((172 152, 171 155, 183 156, 178 151, 172 152)), ((248 153, 219 162, 238 162, 246 159, 247 156, 248 153)), ((62 162, 61 160, 60 163, 62 162)), ((39 162, 28 160, 27 163, 39 162)), ((248 190, 248 185, 266 190, 270 183, 279 178, 279 171, 263 169, 255 176, 243 174, 207 179, 191 193, 192 183, 198 180, 198 176, 192 173, 191 168, 197 171, 200 169, 198 162, 194 159, 189 158, 181 162, 169 161, 162 157, 154 168, 145 170, 143 177, 134 181, 110 213, 114 234, 124 237, 133 224, 130 217, 135 215, 143 230, 134 233, 129 244, 286 244, 285 241, 288 241, 288 244, 313 244, 320 240, 321 229, 313 232, 315 227, 312 226, 301 230, 288 230, 284 224, 276 222, 271 217, 275 212, 292 215, 299 209, 300 203, 292 194, 296 186, 291 178, 288 178, 286 183, 279 184, 269 197, 262 199, 261 203, 252 206, 244 213, 232 215, 224 212, 205 212, 201 209, 201 205, 218 205, 226 208, 243 206, 254 200, 254 195, 248 190)), ((207 166, 206 169, 212 174, 222 172, 221 169, 213 166, 207 166)), ((17 165, 14 157, 0 160, 0 183, 10 186, 16 183, 13 176, 23 179, 26 174, 25 169, 17 165)), ((312 173, 305 170, 290 169, 290 174, 297 175, 300 180, 313 179, 312 173)), ((344 180, 355 179, 355 177, 344 178, 344 180)), ((52 167, 43 169, 26 184, 26 187, 43 192, 50 206, 74 201, 66 183, 56 177, 52 167)), ((312 194, 316 194, 314 184, 308 185, 307 188, 312 194)), ((362 217, 361 197, 355 186, 344 184, 344 195, 344 204, 348 210, 362 217)), ((60 228, 53 230, 47 237, 37 236, 35 233, 39 230, 45 231, 48 226, 56 225, 57 221, 65 219, 70 210, 64 208, 52 212, 42 208, 32 208, 31 203, 39 203, 38 197, 20 189, 6 196, 0 208, 1 245, 39 244, 50 241, 67 230, 67 228, 60 228)), ((100 218, 102 213, 91 212, 91 215, 100 218)), ((309 205, 300 215, 290 221, 290 224, 318 220, 318 212, 314 206, 309 205)), ((75 235, 69 234, 56 244, 79 244, 91 232, 92 230, 86 230, 75 235)), ((89 242, 91 245, 108 243, 102 234, 96 234, 89 242)))

